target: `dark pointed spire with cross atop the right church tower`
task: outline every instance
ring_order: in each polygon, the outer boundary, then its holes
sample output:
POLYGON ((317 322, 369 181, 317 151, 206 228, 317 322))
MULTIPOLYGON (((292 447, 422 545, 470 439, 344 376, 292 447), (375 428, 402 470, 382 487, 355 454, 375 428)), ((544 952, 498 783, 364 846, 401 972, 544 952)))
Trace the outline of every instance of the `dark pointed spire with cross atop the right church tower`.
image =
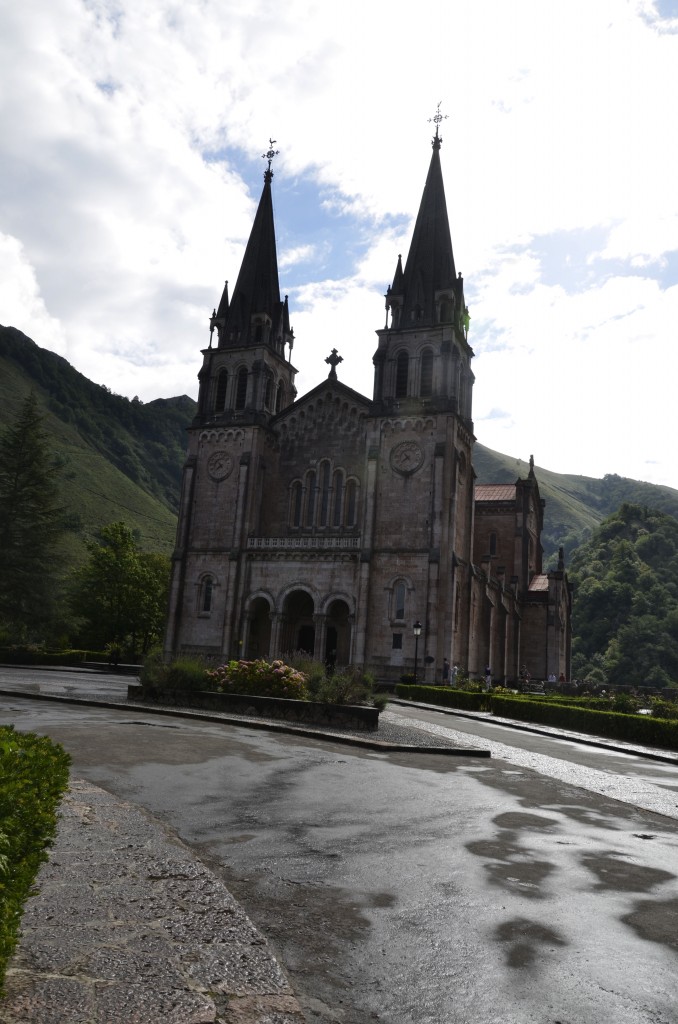
POLYGON ((436 293, 459 289, 440 167, 442 138, 439 126, 444 117, 439 103, 435 117, 430 120, 435 123, 435 135, 424 194, 405 270, 400 272, 398 262, 390 289, 393 298, 399 297, 398 326, 402 328, 413 323, 422 326, 436 323, 436 293))

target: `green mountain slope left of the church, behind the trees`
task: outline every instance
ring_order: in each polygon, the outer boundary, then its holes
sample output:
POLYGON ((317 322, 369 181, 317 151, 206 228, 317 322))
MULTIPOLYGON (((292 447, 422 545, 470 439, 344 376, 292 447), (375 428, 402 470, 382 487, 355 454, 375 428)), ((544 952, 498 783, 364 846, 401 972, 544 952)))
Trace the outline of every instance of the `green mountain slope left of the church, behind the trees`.
POLYGON ((71 556, 102 525, 122 519, 146 550, 174 543, 187 397, 143 404, 93 384, 61 356, 0 327, 0 427, 13 421, 33 391, 61 464, 61 500, 76 527, 71 556))

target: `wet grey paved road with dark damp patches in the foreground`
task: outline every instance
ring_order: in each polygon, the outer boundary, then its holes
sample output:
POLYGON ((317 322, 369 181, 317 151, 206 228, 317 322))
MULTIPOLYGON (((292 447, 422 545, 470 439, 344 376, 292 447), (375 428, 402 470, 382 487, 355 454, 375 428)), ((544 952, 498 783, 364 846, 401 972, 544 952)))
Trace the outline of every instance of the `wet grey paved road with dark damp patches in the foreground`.
POLYGON ((678 1020, 676 820, 634 806, 642 777, 675 808, 676 769, 580 766, 570 744, 570 760, 506 746, 479 763, 137 710, 3 697, 0 712, 221 873, 309 1022, 678 1020), (592 792, 600 775, 618 799, 592 792))

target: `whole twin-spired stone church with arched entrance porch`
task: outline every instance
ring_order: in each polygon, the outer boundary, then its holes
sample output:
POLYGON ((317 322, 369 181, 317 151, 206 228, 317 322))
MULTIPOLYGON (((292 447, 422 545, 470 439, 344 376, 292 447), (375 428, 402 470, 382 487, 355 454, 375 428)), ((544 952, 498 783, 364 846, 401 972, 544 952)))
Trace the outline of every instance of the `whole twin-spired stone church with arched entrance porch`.
POLYGON ((542 571, 531 460, 475 486, 473 352, 436 129, 405 266, 377 331, 372 398, 338 379, 297 397, 281 299, 272 171, 243 264, 211 318, 188 429, 165 654, 305 650, 379 679, 443 658, 496 682, 568 677, 570 591, 542 571), (421 636, 413 635, 415 623, 421 636))

